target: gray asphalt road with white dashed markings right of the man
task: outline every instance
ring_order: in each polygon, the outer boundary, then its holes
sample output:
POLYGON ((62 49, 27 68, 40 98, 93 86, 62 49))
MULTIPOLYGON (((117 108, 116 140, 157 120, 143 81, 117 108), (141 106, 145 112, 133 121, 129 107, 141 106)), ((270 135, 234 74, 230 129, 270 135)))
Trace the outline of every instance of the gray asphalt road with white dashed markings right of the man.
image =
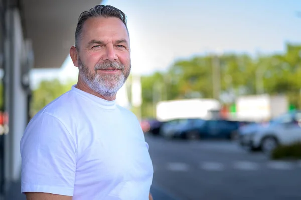
POLYGON ((145 138, 153 185, 171 199, 301 199, 301 162, 271 161, 235 142, 145 138))

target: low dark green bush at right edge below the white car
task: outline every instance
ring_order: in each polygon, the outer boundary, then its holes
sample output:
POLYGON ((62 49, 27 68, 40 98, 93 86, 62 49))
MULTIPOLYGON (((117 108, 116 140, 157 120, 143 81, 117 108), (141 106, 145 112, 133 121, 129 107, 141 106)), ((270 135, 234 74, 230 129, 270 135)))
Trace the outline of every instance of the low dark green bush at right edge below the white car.
POLYGON ((301 159, 301 142, 276 147, 271 153, 272 159, 301 159))

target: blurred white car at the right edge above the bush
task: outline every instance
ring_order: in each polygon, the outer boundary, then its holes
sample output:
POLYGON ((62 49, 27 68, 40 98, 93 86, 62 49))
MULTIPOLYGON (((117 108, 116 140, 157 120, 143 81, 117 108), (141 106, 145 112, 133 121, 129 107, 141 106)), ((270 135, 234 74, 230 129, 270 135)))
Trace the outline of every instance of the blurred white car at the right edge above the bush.
POLYGON ((301 111, 293 111, 261 125, 249 135, 249 149, 271 152, 278 145, 301 142, 301 111))

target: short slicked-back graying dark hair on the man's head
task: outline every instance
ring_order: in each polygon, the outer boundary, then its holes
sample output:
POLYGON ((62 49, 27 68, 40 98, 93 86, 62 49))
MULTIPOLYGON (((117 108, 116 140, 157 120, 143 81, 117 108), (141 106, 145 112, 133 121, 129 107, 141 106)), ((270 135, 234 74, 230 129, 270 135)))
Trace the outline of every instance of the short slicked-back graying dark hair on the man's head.
POLYGON ((127 17, 126 15, 116 7, 113 7, 111 5, 96 5, 95 7, 91 8, 89 11, 84 11, 80 14, 78 18, 78 23, 75 31, 75 47, 77 50, 79 50, 79 39, 82 34, 83 25, 86 20, 93 17, 115 17, 119 18, 125 25, 126 31, 128 34, 127 29, 127 17))

